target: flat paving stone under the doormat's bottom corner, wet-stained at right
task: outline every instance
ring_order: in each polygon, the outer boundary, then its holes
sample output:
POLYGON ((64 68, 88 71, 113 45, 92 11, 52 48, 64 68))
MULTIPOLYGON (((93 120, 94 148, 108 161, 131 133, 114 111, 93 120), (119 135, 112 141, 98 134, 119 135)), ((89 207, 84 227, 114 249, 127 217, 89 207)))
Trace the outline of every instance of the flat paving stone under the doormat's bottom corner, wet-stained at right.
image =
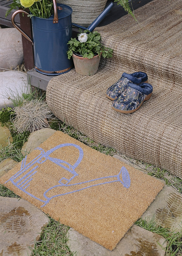
POLYGON ((133 225, 113 251, 93 242, 74 229, 68 231, 67 245, 77 256, 164 256, 166 240, 158 234, 133 225))

